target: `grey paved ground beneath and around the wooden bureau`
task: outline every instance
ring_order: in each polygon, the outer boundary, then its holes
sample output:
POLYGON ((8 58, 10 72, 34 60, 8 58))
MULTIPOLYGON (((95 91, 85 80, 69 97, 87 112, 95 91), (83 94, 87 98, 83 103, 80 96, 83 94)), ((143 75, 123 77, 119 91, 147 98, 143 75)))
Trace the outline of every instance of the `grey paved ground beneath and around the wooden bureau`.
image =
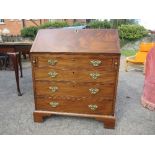
POLYGON ((23 62, 24 77, 20 81, 23 96, 21 97, 16 93, 14 72, 0 70, 0 134, 155 134, 155 112, 143 108, 140 104, 144 75, 140 71, 125 72, 123 57, 121 63, 115 129, 104 129, 102 122, 79 117, 52 116, 44 123, 34 123, 30 63, 23 62))

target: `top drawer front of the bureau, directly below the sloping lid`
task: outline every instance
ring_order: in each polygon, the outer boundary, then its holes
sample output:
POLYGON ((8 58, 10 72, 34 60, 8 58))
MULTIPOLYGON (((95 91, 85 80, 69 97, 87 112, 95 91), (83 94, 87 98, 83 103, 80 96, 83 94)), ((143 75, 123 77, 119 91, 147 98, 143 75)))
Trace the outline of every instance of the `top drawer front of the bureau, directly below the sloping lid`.
POLYGON ((45 55, 37 56, 37 67, 50 67, 53 69, 81 68, 112 70, 114 59, 104 55, 45 55))

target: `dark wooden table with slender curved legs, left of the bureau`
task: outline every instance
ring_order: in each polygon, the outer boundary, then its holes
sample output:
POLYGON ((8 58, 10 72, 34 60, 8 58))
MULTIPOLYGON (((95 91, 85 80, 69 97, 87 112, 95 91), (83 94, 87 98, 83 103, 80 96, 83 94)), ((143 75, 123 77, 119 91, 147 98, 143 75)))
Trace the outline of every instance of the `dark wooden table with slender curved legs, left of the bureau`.
POLYGON ((7 53, 13 62, 13 67, 15 70, 15 78, 17 84, 17 92, 18 96, 22 96, 19 86, 19 68, 21 77, 23 77, 22 73, 22 63, 21 63, 21 53, 28 54, 30 52, 32 43, 30 42, 5 42, 0 43, 0 53, 7 53))

